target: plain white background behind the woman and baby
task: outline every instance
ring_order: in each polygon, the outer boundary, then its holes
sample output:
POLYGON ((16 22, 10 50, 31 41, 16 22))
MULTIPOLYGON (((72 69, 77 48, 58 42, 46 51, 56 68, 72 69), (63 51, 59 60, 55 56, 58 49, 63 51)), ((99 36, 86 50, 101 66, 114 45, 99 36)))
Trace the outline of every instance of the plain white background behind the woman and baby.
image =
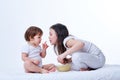
MULTIPOLYGON (((106 56, 106 64, 120 64, 119 0, 0 0, 0 70, 23 67, 21 47, 25 30, 40 27, 48 40, 49 27, 68 26, 70 34, 95 43, 106 56)), ((57 63, 49 44, 44 63, 57 63)))

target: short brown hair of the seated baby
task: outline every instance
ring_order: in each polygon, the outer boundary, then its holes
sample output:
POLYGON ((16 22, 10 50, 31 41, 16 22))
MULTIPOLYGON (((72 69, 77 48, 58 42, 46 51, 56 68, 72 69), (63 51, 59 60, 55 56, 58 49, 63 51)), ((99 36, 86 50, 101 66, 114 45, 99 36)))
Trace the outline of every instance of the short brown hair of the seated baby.
POLYGON ((30 38, 34 38, 37 34, 42 35, 43 31, 39 27, 30 26, 24 34, 25 40, 30 41, 30 38))

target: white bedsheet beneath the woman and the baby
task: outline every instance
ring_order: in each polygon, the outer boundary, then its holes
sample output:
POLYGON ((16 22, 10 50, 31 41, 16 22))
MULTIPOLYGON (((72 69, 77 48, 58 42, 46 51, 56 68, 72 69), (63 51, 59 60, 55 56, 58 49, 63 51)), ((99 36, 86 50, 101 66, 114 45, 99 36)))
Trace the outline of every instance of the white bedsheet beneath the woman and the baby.
POLYGON ((120 65, 105 65, 92 71, 52 72, 49 74, 0 72, 0 80, 120 80, 120 65))

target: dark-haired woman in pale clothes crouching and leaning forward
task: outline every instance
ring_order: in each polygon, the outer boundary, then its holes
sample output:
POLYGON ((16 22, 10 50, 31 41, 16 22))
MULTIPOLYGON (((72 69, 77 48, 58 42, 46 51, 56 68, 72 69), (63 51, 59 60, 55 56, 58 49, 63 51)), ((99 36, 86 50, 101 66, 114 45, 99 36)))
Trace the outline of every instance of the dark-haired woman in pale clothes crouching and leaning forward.
POLYGON ((96 45, 69 35, 63 24, 58 23, 50 27, 49 40, 54 45, 58 62, 71 62, 72 70, 98 69, 105 64, 105 56, 96 45), (71 55, 71 60, 67 58, 68 55, 71 55))

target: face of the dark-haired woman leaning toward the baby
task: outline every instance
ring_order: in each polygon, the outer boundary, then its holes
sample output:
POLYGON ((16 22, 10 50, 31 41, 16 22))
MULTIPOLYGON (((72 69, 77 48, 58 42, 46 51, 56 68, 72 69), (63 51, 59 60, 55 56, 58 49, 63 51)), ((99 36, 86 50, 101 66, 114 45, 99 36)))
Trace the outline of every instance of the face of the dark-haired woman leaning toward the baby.
POLYGON ((55 45, 57 43, 57 35, 54 29, 50 28, 49 32, 49 41, 51 45, 55 45))

